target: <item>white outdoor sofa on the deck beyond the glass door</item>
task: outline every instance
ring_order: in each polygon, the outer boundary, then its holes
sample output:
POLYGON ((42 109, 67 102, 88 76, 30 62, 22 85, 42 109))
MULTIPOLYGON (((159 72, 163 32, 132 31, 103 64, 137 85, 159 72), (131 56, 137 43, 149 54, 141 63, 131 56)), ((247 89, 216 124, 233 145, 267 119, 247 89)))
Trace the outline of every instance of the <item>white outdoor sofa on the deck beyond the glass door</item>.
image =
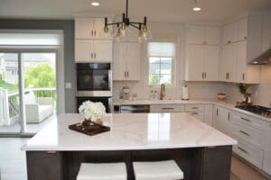
POLYGON ((33 91, 24 94, 25 116, 27 123, 39 123, 53 112, 53 99, 51 97, 36 98, 33 91))

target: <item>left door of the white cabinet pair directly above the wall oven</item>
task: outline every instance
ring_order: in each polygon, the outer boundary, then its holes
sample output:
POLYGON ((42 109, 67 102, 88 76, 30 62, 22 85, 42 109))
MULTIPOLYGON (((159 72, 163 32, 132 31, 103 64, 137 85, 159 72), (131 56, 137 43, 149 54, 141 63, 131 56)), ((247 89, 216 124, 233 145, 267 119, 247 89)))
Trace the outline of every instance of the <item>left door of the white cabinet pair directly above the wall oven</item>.
POLYGON ((75 40, 75 62, 90 62, 93 59, 93 41, 75 40))

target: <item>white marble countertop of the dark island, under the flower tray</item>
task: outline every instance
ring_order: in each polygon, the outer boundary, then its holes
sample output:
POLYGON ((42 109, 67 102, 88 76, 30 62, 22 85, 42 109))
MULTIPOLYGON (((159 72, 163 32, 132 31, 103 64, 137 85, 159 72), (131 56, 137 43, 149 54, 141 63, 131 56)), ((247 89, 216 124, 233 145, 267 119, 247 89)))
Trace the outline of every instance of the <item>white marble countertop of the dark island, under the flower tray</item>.
POLYGON ((191 115, 180 113, 107 114, 108 132, 88 136, 68 126, 82 120, 80 114, 62 114, 24 146, 26 151, 82 151, 158 148, 198 148, 235 145, 229 138, 191 115))

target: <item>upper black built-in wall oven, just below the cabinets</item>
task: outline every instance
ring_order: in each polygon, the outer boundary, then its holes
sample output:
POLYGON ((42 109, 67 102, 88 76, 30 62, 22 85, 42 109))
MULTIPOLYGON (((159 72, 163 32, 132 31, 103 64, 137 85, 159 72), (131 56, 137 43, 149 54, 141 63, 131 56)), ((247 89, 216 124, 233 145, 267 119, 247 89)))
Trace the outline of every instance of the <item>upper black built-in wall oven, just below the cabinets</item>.
POLYGON ((110 63, 77 64, 77 96, 112 96, 110 63))

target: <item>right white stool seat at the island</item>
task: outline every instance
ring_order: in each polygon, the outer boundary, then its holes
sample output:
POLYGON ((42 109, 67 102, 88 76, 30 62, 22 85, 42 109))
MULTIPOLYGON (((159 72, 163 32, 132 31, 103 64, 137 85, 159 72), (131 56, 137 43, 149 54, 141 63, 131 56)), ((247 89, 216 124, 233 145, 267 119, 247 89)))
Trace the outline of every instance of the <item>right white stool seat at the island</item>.
POLYGON ((173 160, 133 162, 135 180, 180 180, 182 169, 173 160))

